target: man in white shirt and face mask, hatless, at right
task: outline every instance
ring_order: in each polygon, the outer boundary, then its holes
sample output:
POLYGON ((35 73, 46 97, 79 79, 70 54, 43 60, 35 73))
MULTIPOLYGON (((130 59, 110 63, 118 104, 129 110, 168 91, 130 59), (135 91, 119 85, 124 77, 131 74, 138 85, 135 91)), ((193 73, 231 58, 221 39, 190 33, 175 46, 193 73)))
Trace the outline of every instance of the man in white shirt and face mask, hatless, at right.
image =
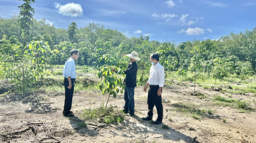
POLYGON ((162 88, 164 84, 164 67, 159 63, 159 55, 153 53, 150 55, 150 67, 148 83, 144 87, 144 92, 147 91, 148 85, 148 116, 143 117, 143 120, 151 121, 153 118, 153 108, 156 106, 157 119, 155 124, 160 124, 163 121, 163 104, 162 104, 162 88))

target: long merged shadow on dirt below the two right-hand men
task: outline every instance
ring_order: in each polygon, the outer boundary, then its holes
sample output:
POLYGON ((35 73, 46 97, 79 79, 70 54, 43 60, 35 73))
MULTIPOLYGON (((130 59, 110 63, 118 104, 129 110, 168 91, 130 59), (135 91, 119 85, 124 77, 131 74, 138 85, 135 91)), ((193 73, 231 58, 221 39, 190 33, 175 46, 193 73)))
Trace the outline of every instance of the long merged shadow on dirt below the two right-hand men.
MULTIPOLYGON (((127 129, 128 131, 134 133, 134 134, 142 134, 141 138, 147 139, 149 138, 149 135, 146 134, 153 134, 152 136, 155 136, 154 138, 163 138, 164 140, 170 140, 171 141, 185 141, 185 142, 192 142, 193 138, 186 136, 185 134, 175 131, 174 129, 171 129, 168 127, 168 129, 163 129, 163 124, 153 124, 150 121, 143 121, 141 117, 138 116, 132 116, 134 119, 139 121, 140 124, 146 126, 138 126, 136 123, 129 122, 126 120, 126 123, 120 123, 123 127, 116 126, 116 130, 122 131, 123 128, 127 129)), ((112 131, 113 132, 113 131, 112 131)), ((116 134, 113 132, 113 134, 116 134)), ((130 137, 134 138, 134 136, 129 136, 129 133, 124 132, 121 134, 122 137, 130 137)), ((194 143, 198 143, 198 141, 194 140, 194 143)))

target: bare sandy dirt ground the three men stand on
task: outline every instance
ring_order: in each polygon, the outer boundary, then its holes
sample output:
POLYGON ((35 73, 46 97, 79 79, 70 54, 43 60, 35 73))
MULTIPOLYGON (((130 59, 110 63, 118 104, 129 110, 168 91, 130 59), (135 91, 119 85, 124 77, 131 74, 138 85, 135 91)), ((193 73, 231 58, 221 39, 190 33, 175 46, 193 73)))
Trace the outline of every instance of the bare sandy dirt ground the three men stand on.
MULTIPOLYGON (((147 116, 147 93, 143 87, 135 88, 135 116, 125 116, 123 123, 88 124, 81 116, 84 109, 99 107, 107 101, 107 95, 100 91, 74 92, 72 111, 75 116, 64 117, 64 92, 40 92, 40 102, 34 96, 19 97, 8 94, 0 99, 0 142, 255 142, 256 113, 242 112, 239 109, 220 106, 212 101, 214 95, 228 97, 220 93, 196 87, 196 91, 206 96, 199 99, 192 96, 193 87, 174 82, 163 89, 163 124, 155 125, 143 121, 147 116), (193 103, 198 110, 213 111, 199 119, 191 114, 183 114, 172 105, 174 103, 193 103), (169 121, 172 119, 172 122, 169 121), (226 123, 223 122, 226 119, 226 123), (87 126, 81 127, 79 123, 87 126), (35 133, 33 133, 35 130, 35 133)), ((255 109, 253 94, 232 94, 232 99, 249 101, 255 109)), ((115 110, 123 107, 123 95, 116 99, 110 97, 115 110)), ((153 120, 157 118, 154 108, 153 120)))

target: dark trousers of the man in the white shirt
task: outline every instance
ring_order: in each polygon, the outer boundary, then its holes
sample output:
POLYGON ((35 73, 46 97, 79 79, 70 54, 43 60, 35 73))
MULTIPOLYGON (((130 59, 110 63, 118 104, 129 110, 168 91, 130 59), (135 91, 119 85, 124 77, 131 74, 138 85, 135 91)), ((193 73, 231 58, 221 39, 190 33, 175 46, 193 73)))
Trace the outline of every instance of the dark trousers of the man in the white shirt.
POLYGON ((148 116, 153 117, 153 108, 156 106, 157 110, 157 121, 163 120, 163 104, 162 104, 162 95, 158 96, 157 91, 159 86, 149 87, 148 90, 148 116))

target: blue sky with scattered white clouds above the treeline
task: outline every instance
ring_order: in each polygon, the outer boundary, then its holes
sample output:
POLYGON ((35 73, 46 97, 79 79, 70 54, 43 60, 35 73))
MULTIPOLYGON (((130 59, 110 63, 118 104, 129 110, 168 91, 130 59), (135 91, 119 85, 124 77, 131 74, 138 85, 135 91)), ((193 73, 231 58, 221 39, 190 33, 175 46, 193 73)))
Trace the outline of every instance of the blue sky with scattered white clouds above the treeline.
MULTIPOLYGON (((0 0, 0 17, 18 14, 23 1, 0 0)), ((36 0, 34 18, 46 19, 57 28, 71 22, 85 27, 89 22, 117 29, 127 37, 149 40, 216 40, 231 32, 256 27, 255 0, 36 0)))

